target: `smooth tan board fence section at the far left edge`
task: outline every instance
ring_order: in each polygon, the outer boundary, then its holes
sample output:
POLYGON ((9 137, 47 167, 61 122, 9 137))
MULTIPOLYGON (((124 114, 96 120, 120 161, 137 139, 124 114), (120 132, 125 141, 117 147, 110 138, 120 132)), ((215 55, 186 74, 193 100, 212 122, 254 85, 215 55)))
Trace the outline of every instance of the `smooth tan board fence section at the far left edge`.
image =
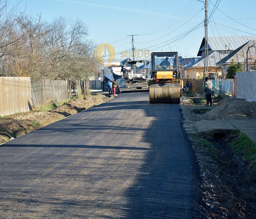
POLYGON ((30 111, 31 105, 30 77, 0 77, 0 116, 30 111))

